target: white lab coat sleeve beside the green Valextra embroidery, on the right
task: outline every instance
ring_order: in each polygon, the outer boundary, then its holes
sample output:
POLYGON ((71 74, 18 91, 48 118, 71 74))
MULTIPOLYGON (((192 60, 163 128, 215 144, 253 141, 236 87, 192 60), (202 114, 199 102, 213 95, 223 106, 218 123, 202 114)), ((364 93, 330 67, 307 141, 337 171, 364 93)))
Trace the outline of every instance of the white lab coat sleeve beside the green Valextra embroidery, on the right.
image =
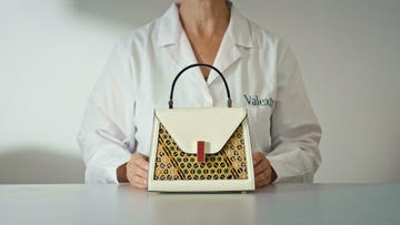
POLYGON ((297 60, 283 45, 278 61, 278 90, 271 115, 271 152, 276 182, 312 182, 321 163, 320 124, 303 88, 297 60))

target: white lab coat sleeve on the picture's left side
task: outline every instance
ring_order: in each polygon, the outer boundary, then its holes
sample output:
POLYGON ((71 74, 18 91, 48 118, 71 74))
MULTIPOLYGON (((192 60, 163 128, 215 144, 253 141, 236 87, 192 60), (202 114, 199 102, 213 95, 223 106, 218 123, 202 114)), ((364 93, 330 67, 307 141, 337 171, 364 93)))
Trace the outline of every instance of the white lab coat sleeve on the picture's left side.
POLYGON ((134 150, 134 96, 129 50, 116 44, 89 99, 77 140, 86 183, 118 183, 117 168, 134 150))

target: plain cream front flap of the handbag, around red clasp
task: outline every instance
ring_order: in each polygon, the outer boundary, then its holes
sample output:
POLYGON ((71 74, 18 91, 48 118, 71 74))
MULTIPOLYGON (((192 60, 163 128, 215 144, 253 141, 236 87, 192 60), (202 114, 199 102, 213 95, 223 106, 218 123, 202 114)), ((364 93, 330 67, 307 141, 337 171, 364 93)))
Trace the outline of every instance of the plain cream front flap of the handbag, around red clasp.
POLYGON ((197 143, 206 143, 206 154, 219 152, 246 119, 244 108, 157 109, 156 116, 178 146, 197 153, 197 143))

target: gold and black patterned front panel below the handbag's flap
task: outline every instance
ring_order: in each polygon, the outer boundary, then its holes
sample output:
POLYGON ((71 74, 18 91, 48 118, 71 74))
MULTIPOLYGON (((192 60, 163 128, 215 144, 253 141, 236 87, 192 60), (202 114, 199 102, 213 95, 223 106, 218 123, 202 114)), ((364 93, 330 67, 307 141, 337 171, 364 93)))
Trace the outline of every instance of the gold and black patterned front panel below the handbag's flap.
POLYGON ((160 124, 153 178, 156 181, 247 180, 242 126, 238 126, 221 151, 207 154, 206 162, 198 163, 197 154, 180 150, 160 124))

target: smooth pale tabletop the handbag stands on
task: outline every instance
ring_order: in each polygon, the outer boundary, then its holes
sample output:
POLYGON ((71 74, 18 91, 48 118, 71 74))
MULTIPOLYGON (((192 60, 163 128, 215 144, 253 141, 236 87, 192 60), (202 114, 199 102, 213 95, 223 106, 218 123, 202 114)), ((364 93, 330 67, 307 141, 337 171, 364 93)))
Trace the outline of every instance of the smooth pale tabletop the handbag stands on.
POLYGON ((0 224, 400 224, 400 184, 277 184, 247 194, 0 185, 0 224))

